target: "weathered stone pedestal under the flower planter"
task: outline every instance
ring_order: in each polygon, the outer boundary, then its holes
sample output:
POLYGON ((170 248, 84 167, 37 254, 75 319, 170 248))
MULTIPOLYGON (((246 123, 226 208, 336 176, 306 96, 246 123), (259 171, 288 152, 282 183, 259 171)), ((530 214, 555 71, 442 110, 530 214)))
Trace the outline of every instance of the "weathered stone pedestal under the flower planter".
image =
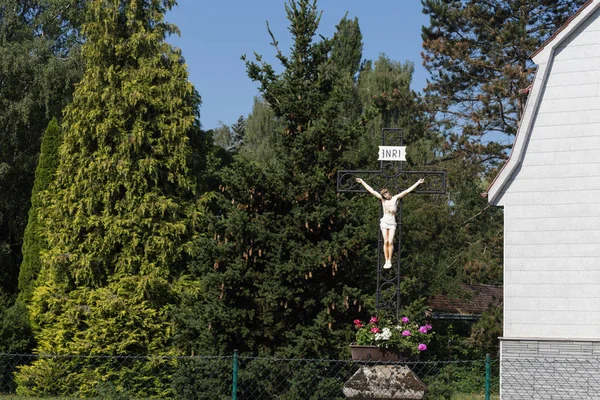
POLYGON ((425 391, 425 384, 403 365, 363 366, 344 384, 349 399, 423 399, 425 391))

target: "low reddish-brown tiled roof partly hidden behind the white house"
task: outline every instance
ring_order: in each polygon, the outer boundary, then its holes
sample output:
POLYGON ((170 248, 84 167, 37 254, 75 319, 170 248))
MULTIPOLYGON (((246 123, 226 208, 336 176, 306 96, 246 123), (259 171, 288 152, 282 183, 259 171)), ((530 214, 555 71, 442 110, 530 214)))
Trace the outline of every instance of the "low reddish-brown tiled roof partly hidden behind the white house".
POLYGON ((434 313, 481 315, 490 306, 499 306, 503 300, 503 288, 492 285, 461 284, 464 291, 460 297, 436 295, 429 299, 434 313))

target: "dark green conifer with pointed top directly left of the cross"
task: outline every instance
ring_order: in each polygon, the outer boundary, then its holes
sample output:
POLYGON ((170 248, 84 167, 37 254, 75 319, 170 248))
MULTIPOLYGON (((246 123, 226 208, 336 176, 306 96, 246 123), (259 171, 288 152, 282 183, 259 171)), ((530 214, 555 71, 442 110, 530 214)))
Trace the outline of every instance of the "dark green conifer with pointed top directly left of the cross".
POLYGON ((360 115, 343 117, 354 81, 332 62, 331 41, 315 41, 315 2, 290 1, 286 11, 294 44, 289 56, 276 49, 283 72, 247 62, 265 115, 278 121, 277 162, 242 155, 220 174, 222 216, 193 265, 202 290, 180 316, 188 351, 338 357, 374 293, 374 240, 362 228, 377 208, 336 193, 363 129, 360 115))

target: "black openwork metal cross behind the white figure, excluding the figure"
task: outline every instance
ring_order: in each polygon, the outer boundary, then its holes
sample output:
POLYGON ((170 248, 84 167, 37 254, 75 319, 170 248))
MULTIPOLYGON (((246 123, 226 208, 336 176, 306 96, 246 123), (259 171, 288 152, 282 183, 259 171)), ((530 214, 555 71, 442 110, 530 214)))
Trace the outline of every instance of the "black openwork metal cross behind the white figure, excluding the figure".
MULTIPOLYGON (((381 130, 382 146, 404 146, 404 131, 402 129, 384 128, 381 130)), ((356 182, 362 178, 373 189, 379 191, 389 189, 392 195, 400 193, 412 186, 420 178, 425 178, 425 183, 417 187, 413 194, 445 194, 445 171, 405 171, 404 161, 381 161, 378 171, 338 171, 337 191, 350 193, 364 193, 364 187, 356 182)), ((383 216, 379 208, 379 217, 383 216)), ((394 311, 398 317, 400 311, 400 250, 402 244, 402 199, 399 200, 396 213, 396 268, 383 269, 382 246, 383 236, 379 232, 379 246, 377 251, 377 297, 378 309, 394 311)))

